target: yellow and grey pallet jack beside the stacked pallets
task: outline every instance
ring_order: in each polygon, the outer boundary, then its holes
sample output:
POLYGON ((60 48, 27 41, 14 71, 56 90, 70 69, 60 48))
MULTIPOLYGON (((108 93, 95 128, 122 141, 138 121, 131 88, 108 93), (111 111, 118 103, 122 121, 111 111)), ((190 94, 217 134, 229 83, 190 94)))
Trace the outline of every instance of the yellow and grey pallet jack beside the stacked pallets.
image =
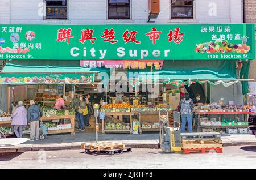
POLYGON ((159 111, 159 143, 158 148, 162 147, 163 152, 182 153, 180 135, 180 113, 174 112, 174 126, 168 125, 169 115, 167 109, 159 111), (167 115, 161 114, 166 112, 167 115), (177 127, 176 127, 176 124, 177 127))

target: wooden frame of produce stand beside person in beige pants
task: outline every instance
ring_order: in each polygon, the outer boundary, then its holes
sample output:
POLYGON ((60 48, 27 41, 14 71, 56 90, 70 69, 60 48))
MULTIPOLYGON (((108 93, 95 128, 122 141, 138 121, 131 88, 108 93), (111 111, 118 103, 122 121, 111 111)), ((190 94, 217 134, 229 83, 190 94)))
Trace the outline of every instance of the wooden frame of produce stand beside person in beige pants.
POLYGON ((61 133, 70 133, 75 134, 75 115, 60 115, 60 116, 51 116, 51 117, 42 117, 42 121, 52 121, 56 119, 70 119, 72 128, 65 130, 48 130, 48 134, 61 134, 61 133))

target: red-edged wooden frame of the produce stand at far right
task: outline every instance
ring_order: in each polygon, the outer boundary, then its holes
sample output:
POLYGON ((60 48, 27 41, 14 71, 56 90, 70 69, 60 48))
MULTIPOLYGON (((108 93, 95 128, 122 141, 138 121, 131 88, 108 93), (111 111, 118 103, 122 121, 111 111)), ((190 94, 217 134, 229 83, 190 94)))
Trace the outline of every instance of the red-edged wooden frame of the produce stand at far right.
MULTIPOLYGON (((196 119, 197 119, 197 132, 201 132, 201 128, 249 128, 248 125, 220 125, 220 126, 214 126, 214 125, 201 125, 201 115, 220 115, 220 118, 224 114, 230 114, 230 115, 244 115, 245 122, 248 122, 249 114, 253 112, 196 112, 196 119)), ((222 118, 221 118, 222 119, 222 118)))

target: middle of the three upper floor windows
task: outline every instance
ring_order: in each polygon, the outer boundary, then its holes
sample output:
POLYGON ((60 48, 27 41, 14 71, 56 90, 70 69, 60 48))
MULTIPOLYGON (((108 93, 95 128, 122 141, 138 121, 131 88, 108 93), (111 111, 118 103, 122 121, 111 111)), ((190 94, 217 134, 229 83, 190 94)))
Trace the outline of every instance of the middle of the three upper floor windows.
POLYGON ((108 0, 108 19, 130 19, 130 0, 108 0))

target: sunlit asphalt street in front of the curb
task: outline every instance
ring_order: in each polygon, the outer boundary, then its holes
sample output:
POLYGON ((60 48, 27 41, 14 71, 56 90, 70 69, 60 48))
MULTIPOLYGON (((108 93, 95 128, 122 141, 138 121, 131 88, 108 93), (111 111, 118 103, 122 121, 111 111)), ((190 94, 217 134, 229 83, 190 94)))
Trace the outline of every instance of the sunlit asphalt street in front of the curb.
POLYGON ((0 168, 256 168, 256 147, 224 147, 223 153, 171 154, 141 148, 119 155, 88 155, 83 150, 1 153, 0 168))

